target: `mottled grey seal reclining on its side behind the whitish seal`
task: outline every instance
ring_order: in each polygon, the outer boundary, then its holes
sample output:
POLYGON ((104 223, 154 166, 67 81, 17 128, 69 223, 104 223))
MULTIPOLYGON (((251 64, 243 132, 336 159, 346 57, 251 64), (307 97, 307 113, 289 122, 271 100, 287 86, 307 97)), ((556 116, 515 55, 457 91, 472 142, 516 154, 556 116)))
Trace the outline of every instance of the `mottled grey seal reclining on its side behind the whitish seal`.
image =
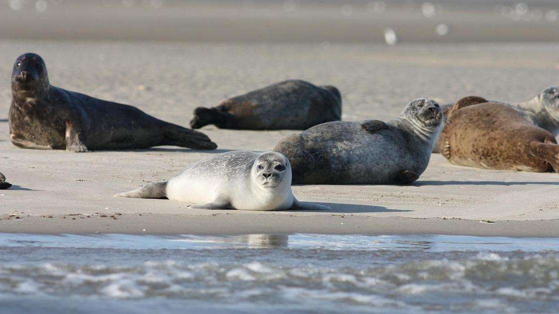
POLYGON ((409 184, 427 168, 441 126, 439 104, 420 98, 389 122, 323 123, 274 151, 291 161, 297 184, 409 184))

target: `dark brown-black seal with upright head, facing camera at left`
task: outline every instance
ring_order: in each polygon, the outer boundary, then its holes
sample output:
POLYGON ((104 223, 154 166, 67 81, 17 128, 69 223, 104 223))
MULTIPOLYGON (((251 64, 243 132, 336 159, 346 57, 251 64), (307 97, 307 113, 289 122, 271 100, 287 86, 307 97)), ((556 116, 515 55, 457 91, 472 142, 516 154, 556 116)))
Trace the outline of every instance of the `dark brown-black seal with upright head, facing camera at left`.
POLYGON ((49 83, 39 55, 19 56, 12 72, 10 139, 20 148, 87 151, 176 145, 215 149, 201 132, 138 108, 66 91, 49 83))

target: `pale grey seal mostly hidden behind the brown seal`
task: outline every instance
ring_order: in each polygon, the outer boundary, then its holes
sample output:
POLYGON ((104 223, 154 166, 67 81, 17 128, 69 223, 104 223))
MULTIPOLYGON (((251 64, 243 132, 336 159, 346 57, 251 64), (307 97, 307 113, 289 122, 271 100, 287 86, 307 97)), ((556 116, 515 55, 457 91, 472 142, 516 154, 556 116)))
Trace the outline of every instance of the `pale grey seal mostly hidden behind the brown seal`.
MULTIPOLYGON (((496 101, 486 101, 496 102, 496 101)), ((496 102, 501 103, 501 102, 496 102)), ((559 86, 551 86, 544 89, 532 100, 521 103, 503 103, 518 111, 526 120, 533 125, 539 126, 557 136, 559 134, 559 86)), ((453 104, 443 106, 443 114, 447 116, 447 111, 453 104)), ((433 153, 439 153, 440 141, 433 147, 433 153)))

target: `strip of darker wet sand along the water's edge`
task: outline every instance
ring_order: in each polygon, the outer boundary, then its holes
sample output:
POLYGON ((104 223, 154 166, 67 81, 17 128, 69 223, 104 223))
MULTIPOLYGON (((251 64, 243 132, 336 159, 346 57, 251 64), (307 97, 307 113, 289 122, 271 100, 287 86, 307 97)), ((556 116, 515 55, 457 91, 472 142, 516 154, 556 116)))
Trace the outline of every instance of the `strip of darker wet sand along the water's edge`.
MULTIPOLYGON (((20 215, 0 220, 0 233, 12 234, 130 234, 130 235, 461 235, 499 237, 559 237, 559 219, 494 221, 447 218, 378 218, 356 215, 300 215, 280 217, 256 213, 212 211, 207 215, 101 214, 20 215), (106 215, 106 217, 101 217, 106 215), (81 218, 80 218, 81 216, 81 218), (52 218, 50 218, 52 217, 52 218), (63 218, 65 217, 65 218, 63 218), (74 220, 74 219, 75 220, 74 220), (44 222, 48 221, 47 224, 44 222)), ((273 214, 272 214, 273 215, 273 214)))

